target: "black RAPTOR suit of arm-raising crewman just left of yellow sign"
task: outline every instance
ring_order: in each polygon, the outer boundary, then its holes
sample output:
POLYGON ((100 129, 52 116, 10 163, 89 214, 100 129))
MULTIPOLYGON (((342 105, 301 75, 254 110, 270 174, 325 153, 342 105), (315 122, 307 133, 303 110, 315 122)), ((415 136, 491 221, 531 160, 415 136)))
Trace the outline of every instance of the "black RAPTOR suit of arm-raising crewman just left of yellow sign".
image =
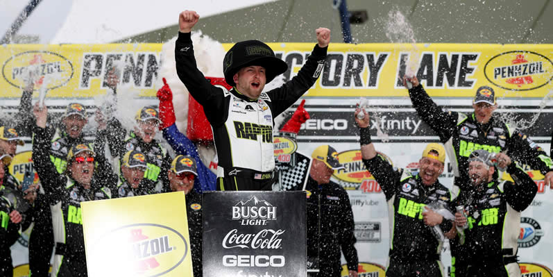
POLYGON ((50 141, 46 128, 35 127, 33 162, 42 187, 51 204, 56 253, 52 276, 87 276, 83 220, 80 202, 110 199, 114 184, 107 184, 103 174, 111 172, 101 156, 96 156, 90 189, 76 183, 69 176, 59 174, 49 158, 50 141))

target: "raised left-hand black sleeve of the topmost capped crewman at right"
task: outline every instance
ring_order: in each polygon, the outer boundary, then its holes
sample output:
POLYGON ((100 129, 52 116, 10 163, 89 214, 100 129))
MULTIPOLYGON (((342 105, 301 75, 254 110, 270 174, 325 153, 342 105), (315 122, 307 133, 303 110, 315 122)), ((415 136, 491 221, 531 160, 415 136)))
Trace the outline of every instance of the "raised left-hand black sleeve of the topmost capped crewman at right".
POLYGON ((459 114, 457 112, 445 112, 439 108, 428 96, 423 85, 411 88, 409 97, 411 103, 413 103, 413 108, 417 111, 417 115, 436 132, 441 142, 447 142, 455 132, 459 114))

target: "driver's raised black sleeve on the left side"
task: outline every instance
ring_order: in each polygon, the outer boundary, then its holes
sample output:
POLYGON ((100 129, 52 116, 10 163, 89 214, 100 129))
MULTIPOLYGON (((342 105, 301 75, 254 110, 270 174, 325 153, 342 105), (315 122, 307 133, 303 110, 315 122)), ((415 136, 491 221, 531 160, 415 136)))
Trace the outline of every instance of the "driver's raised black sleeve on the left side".
POLYGON ((207 120, 215 125, 224 122, 223 90, 207 81, 198 69, 190 33, 178 33, 178 39, 175 42, 175 60, 178 78, 185 84, 194 100, 203 106, 207 120))

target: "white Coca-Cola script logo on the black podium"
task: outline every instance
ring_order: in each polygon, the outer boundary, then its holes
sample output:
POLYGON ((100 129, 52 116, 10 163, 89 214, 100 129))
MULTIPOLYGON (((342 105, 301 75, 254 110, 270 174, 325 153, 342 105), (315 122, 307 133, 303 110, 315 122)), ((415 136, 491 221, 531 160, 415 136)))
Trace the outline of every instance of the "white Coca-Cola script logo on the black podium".
POLYGON ((279 236, 283 233, 280 229, 264 229, 257 234, 239 234, 237 229, 232 229, 223 239, 223 248, 280 249, 282 239, 279 236))

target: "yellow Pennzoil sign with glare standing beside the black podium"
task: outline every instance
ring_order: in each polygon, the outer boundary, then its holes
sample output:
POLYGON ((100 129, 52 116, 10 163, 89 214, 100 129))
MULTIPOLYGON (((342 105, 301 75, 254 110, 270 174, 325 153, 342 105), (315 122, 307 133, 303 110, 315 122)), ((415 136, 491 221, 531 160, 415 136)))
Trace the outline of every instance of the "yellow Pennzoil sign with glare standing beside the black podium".
POLYGON ((89 276, 192 276, 184 192, 81 207, 89 276))

